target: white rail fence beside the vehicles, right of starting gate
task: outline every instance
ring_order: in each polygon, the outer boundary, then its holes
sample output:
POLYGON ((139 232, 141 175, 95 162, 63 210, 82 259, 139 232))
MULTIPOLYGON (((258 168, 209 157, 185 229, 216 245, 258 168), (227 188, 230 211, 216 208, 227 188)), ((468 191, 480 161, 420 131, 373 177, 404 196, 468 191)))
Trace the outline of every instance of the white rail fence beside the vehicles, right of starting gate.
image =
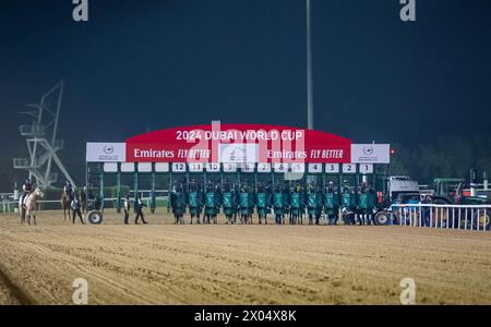
POLYGON ((491 205, 397 204, 393 205, 394 223, 489 231, 491 205))

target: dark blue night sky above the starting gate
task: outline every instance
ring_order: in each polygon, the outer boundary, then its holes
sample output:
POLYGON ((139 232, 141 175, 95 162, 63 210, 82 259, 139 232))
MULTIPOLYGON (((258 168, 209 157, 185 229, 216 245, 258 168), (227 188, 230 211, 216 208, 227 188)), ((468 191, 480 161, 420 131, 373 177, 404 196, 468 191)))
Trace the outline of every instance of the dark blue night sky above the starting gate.
MULTIPOLYGON (((82 170, 85 142, 147 129, 307 125, 304 0, 89 0, 88 23, 72 9, 0 4, 2 162, 26 156, 16 112, 62 78, 60 137, 82 170)), ((411 23, 399 9, 312 0, 315 129, 403 144, 489 130, 491 1, 417 0, 411 23)))

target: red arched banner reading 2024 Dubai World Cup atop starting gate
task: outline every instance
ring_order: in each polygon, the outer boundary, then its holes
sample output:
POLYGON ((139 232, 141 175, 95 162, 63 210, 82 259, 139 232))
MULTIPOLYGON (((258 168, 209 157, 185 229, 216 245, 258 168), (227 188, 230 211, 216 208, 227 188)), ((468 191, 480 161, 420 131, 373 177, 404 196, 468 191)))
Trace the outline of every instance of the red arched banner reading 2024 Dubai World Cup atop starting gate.
POLYGON ((261 124, 175 128, 127 140, 129 162, 349 164, 351 141, 320 131, 261 124))

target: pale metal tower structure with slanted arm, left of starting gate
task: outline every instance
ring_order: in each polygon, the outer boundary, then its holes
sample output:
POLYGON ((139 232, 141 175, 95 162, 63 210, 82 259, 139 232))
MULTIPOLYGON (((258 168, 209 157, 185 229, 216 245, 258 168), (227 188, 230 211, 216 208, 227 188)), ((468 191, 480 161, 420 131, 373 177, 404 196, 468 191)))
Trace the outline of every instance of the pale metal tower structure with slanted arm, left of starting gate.
POLYGON ((75 187, 57 155, 64 145, 63 140, 57 138, 63 88, 64 81, 61 81, 40 98, 39 104, 27 105, 29 110, 20 112, 32 118, 31 124, 19 126, 21 135, 26 138, 29 158, 15 158, 13 166, 14 169, 28 171, 29 179, 34 178, 44 187, 51 186, 58 180, 58 173, 51 172, 53 165, 75 187))

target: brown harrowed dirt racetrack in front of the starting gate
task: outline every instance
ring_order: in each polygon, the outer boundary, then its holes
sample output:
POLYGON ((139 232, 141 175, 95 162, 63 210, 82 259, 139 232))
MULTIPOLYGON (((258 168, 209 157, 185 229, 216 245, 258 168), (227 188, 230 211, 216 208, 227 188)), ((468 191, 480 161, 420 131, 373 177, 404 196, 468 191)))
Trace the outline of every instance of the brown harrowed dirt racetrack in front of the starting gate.
POLYGON ((76 278, 89 304, 399 304, 403 278, 419 304, 491 304, 490 232, 37 220, 0 215, 1 304, 70 304, 76 278))

